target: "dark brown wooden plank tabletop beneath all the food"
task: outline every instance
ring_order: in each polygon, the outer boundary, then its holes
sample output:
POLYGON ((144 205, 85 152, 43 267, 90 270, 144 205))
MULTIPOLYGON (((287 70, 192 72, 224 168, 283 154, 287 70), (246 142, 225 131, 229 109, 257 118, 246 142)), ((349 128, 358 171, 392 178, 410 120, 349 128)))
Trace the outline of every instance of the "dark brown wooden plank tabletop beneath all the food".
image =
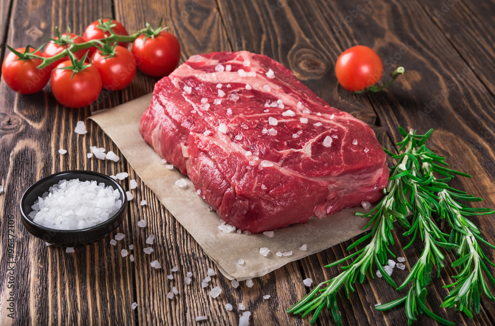
MULTIPOLYGON (((113 17, 129 31, 145 22, 164 23, 177 35, 182 62, 190 55, 212 51, 248 50, 266 54, 292 69, 297 78, 332 106, 369 123, 380 143, 393 148, 400 140, 397 127, 424 133, 435 128, 431 148, 447 157, 453 168, 473 175, 457 178, 452 185, 484 197, 485 207, 495 207, 495 1, 392 1, 392 0, 69 0, 0 1, 0 40, 17 48, 38 46, 53 37, 55 26, 71 27, 76 33, 100 17, 113 17), (362 44, 384 58, 386 73, 402 65, 407 74, 387 90, 355 96, 339 87, 334 64, 342 51, 362 44)), ((1 48, 1 58, 5 48, 1 48)), ((0 324, 15 325, 237 325, 239 313, 226 312, 224 305, 244 302, 251 325, 307 325, 309 320, 289 316, 285 310, 307 288, 302 279, 315 283, 332 277, 338 268, 322 266, 344 257, 350 241, 312 255, 254 280, 238 289, 216 276, 224 289, 211 299, 200 289, 200 276, 214 264, 187 231, 160 205, 126 162, 111 163, 86 158, 90 146, 102 146, 117 154, 118 148, 99 127, 87 121, 88 133, 76 137, 76 121, 92 111, 111 108, 152 91, 155 78, 138 71, 125 90, 101 97, 83 109, 67 109, 56 103, 49 87, 23 96, 0 82, 0 324), (58 154, 64 148, 68 153, 58 154), (36 180, 69 169, 88 169, 105 174, 127 171, 137 179, 137 196, 130 202, 128 219, 117 230, 125 234, 117 246, 109 237, 66 254, 65 248, 47 247, 22 226, 18 209, 23 191, 36 180), (148 205, 139 206, 141 199, 148 205), (9 233, 9 221, 14 220, 9 233), (146 231, 136 223, 148 221, 146 231), (12 257, 8 238, 15 238, 12 257), (120 250, 134 244, 142 253, 148 233, 156 235, 154 257, 163 270, 149 266, 150 257, 135 254, 136 261, 120 257, 120 250), (9 264, 14 261, 15 264, 9 264), (168 271, 192 271, 196 279, 185 286, 181 273, 169 281, 168 271), (13 269, 14 288, 8 288, 13 269), (165 296, 171 286, 180 295, 165 296), (15 319, 7 316, 12 291, 15 319), (263 300, 263 294, 270 294, 263 300), (137 302, 133 310, 131 304, 137 302), (195 322, 197 316, 206 322, 195 322)), ((128 181, 127 181, 128 182, 128 181)), ((128 187, 128 184, 126 184, 128 187)), ((481 205, 475 203, 474 205, 481 205)), ((493 216, 474 218, 486 238, 495 242, 493 216)), ((116 232, 117 232, 116 231, 116 232)), ((396 233, 399 245, 407 239, 396 233)), ((493 260, 494 251, 488 250, 493 260)), ((406 252, 407 269, 416 261, 420 242, 406 252)), ((450 264, 448 255, 447 263, 450 264)), ((494 269, 491 268, 494 272, 494 269)), ((218 271, 217 271, 218 272, 218 271)), ((440 279, 429 286, 428 307, 458 324, 494 325, 495 304, 483 299, 481 313, 469 320, 453 310, 439 308, 455 270, 446 267, 440 279)), ((400 275, 396 274, 400 281, 400 275)), ((357 284, 350 300, 341 291, 339 305, 347 325, 404 325, 403 309, 382 313, 377 302, 399 297, 383 279, 357 284)), ((332 325, 322 312, 320 325, 332 325)), ((421 316, 417 325, 433 325, 421 316)))

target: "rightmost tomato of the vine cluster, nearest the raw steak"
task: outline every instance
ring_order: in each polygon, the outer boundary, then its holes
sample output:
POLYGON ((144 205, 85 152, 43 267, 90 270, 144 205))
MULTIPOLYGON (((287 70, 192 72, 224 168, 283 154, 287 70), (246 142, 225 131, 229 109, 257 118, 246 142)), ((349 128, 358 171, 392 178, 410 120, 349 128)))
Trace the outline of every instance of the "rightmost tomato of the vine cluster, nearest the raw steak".
POLYGON ((144 39, 141 35, 132 44, 139 70, 153 77, 163 77, 174 71, 181 57, 179 40, 165 31, 144 39))

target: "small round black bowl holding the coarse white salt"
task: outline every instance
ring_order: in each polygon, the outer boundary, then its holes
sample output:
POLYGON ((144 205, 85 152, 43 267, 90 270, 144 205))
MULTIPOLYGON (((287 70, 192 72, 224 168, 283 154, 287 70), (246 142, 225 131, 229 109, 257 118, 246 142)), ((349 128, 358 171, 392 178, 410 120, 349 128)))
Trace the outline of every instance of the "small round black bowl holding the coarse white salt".
POLYGON ((49 243, 73 246, 98 240, 115 230, 127 216, 127 197, 124 189, 117 181, 107 175, 84 170, 64 171, 49 175, 31 185, 22 195, 20 209, 22 223, 31 234, 49 243), (42 197, 48 191, 50 186, 63 179, 79 179, 79 181, 96 180, 98 183, 103 182, 105 186, 111 186, 113 189, 119 190, 122 206, 114 216, 103 223, 85 229, 57 230, 34 223, 31 217, 29 217, 29 213, 33 212, 31 206, 38 200, 38 197, 42 197))

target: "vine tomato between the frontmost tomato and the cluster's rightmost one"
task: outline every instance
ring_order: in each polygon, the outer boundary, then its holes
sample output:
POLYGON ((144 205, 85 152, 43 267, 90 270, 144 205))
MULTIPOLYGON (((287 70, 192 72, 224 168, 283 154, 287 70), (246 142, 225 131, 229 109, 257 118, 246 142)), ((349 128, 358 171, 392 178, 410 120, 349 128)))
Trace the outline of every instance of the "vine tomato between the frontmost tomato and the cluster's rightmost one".
POLYGON ((121 46, 116 46, 114 52, 115 55, 111 56, 96 51, 91 56, 92 65, 98 69, 101 76, 103 88, 109 91, 126 88, 136 75, 134 55, 121 46))

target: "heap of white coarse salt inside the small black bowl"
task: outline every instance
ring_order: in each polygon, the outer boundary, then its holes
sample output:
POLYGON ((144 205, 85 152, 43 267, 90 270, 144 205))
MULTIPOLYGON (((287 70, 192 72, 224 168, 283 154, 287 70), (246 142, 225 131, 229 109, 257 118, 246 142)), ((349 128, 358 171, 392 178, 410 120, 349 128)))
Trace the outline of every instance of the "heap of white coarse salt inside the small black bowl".
POLYGON ((31 207, 36 224, 59 230, 77 230, 98 225, 120 207, 120 192, 97 181, 60 180, 49 187, 31 207))

